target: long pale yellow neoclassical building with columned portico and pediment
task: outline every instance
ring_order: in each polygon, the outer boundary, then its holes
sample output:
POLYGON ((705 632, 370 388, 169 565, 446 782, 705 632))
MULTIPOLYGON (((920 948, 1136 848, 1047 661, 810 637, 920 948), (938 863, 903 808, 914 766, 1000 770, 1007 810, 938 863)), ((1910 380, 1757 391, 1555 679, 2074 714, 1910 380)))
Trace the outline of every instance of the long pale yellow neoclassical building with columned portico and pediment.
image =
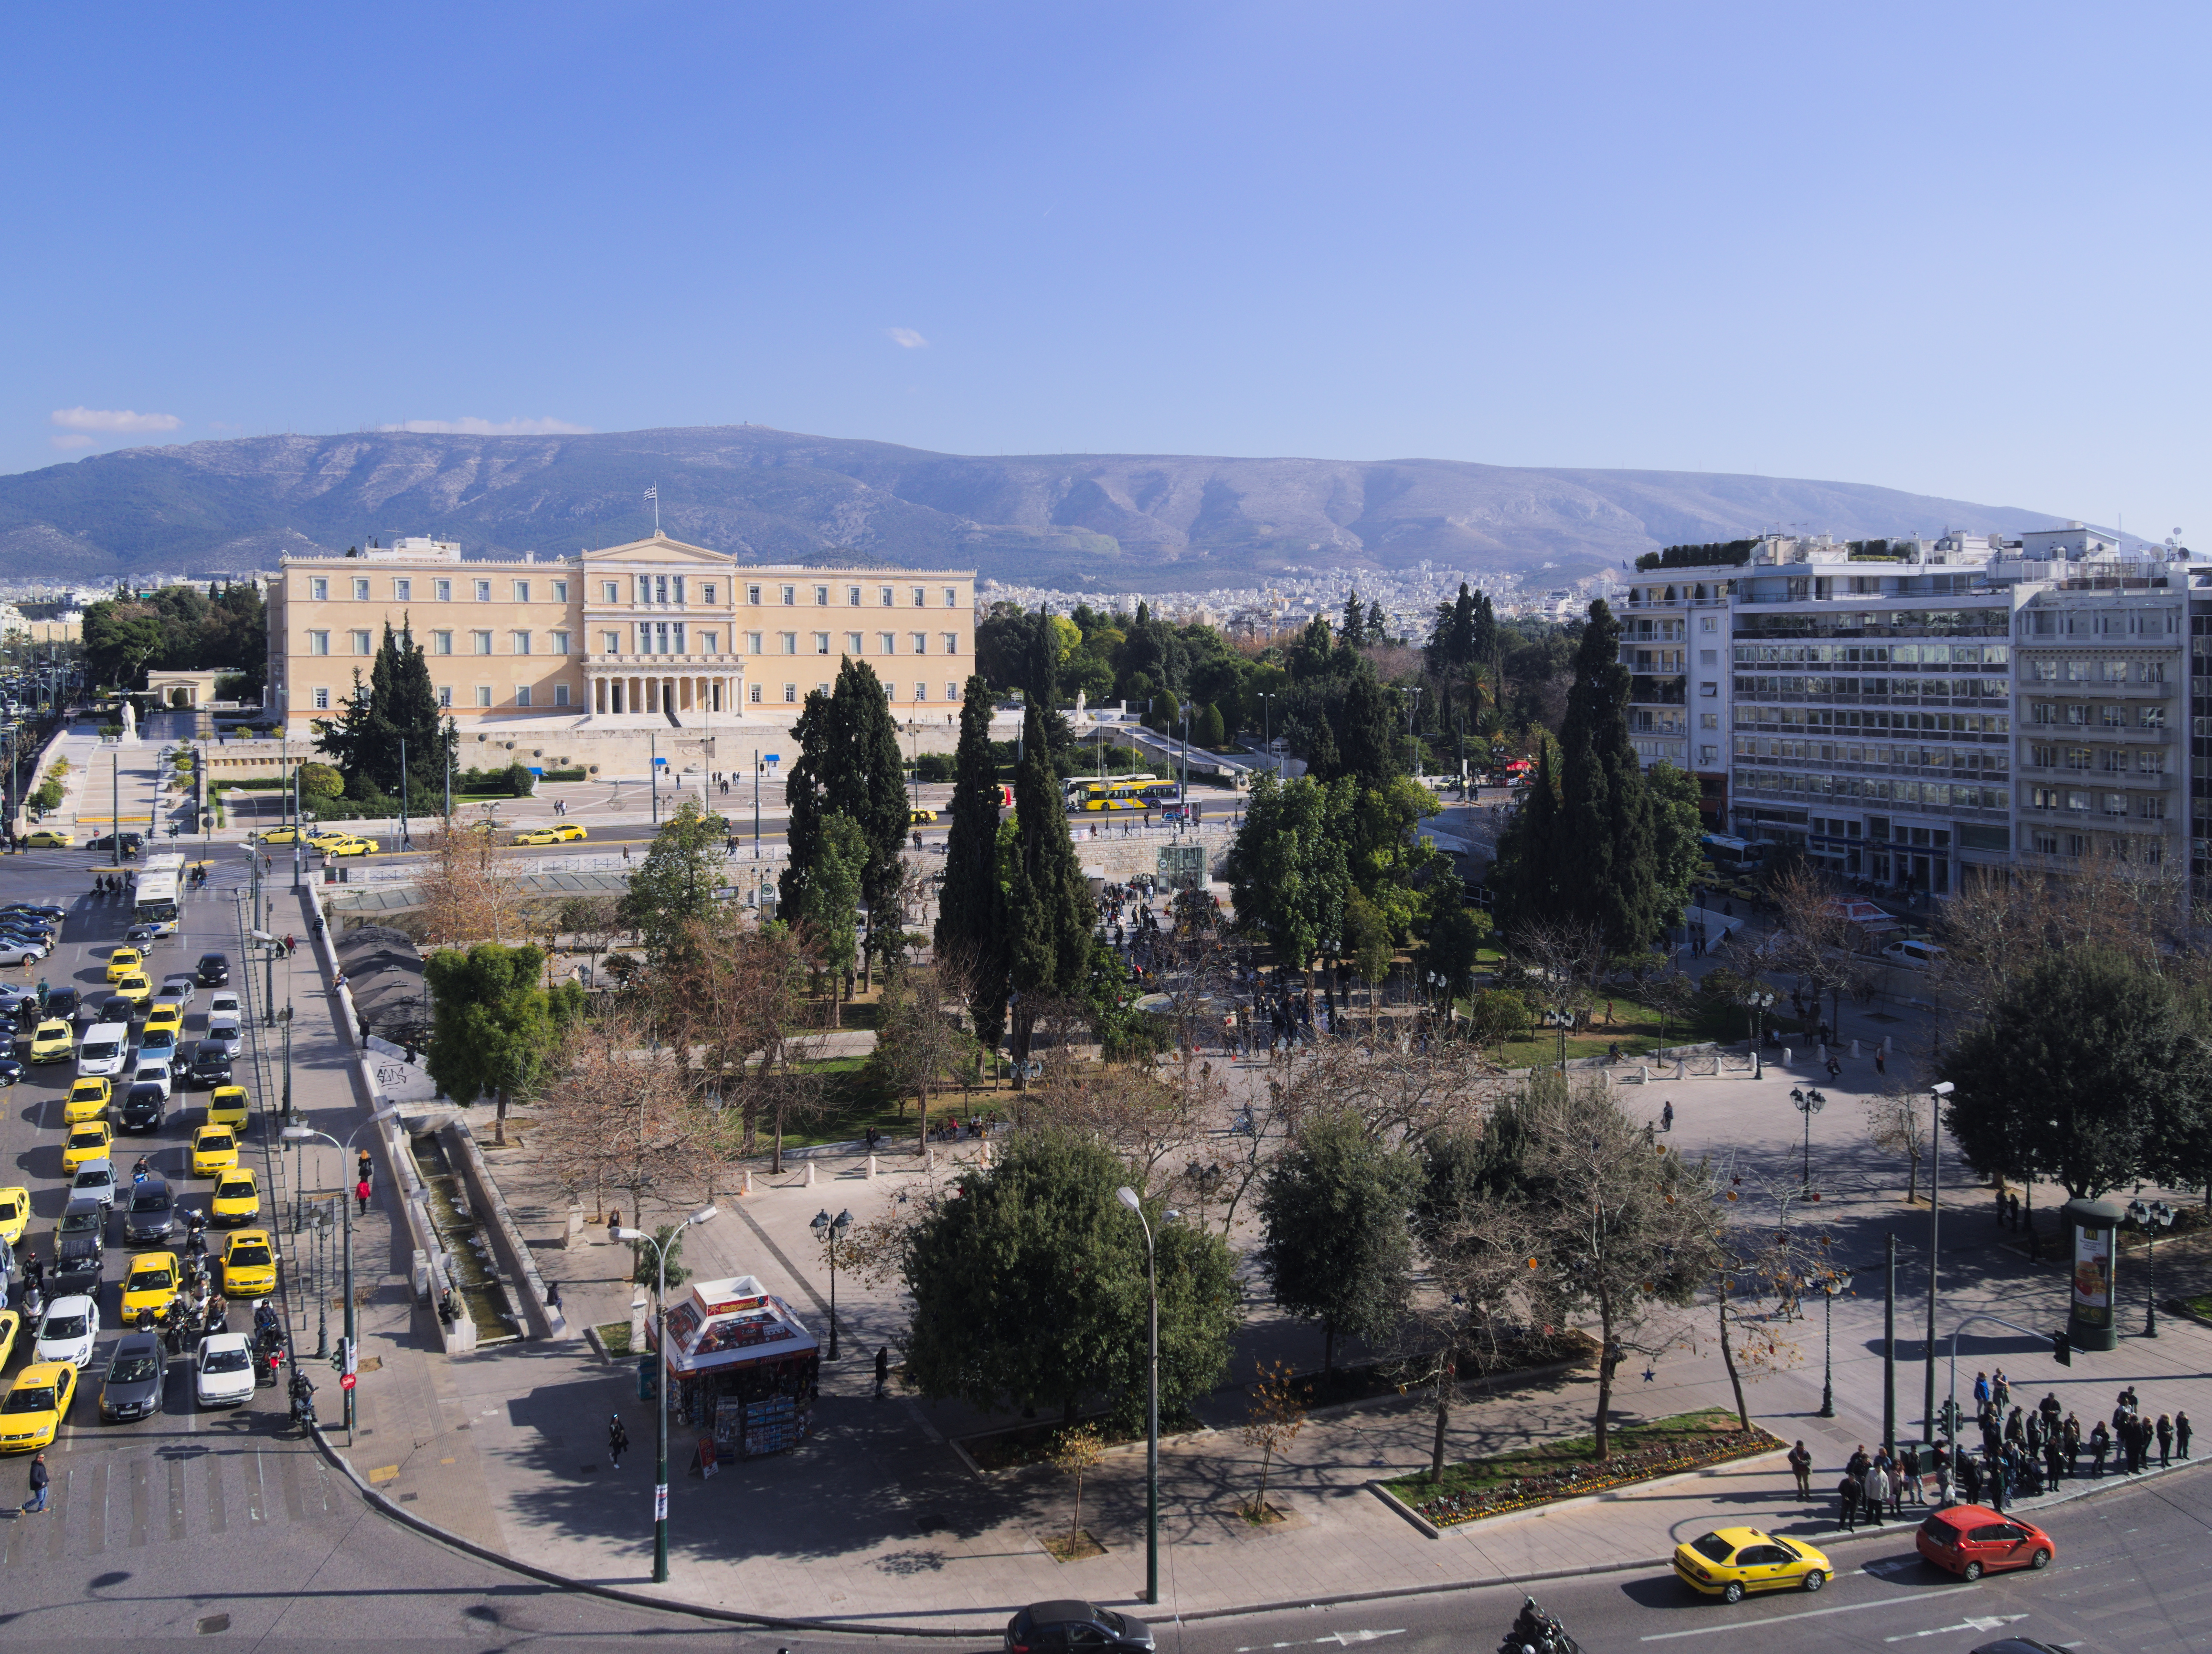
POLYGON ((947 723, 975 666, 973 568, 743 564, 666 535, 571 557, 462 559, 445 540, 285 557, 270 586, 268 705, 294 741, 409 626, 467 736, 787 730, 843 659, 902 721, 947 723))

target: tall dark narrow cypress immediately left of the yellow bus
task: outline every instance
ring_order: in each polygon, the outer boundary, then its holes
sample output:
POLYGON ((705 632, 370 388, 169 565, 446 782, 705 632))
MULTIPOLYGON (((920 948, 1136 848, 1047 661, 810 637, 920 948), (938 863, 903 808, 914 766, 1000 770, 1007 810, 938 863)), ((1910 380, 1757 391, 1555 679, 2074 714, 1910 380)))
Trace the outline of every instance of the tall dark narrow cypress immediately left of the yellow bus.
POLYGON ((1013 1055, 1029 1059, 1042 1002, 1075 999, 1091 975, 1091 887, 1046 752, 1044 712, 1029 703, 1024 756, 1013 781, 1013 869, 1006 889, 1013 1055))

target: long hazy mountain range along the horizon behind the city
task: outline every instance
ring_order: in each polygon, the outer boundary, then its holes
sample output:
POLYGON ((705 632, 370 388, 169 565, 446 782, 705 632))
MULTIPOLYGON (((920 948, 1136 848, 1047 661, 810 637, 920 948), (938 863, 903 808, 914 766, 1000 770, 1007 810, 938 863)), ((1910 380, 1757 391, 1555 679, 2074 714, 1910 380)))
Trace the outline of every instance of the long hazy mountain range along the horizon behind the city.
POLYGON ((1679 542, 2046 528, 1858 482, 1464 460, 960 456, 717 425, 588 436, 257 436, 0 475, 0 577, 272 568, 431 533, 568 553, 661 526, 757 562, 978 568, 1022 586, 1201 590, 1420 562, 1564 584, 1679 542))

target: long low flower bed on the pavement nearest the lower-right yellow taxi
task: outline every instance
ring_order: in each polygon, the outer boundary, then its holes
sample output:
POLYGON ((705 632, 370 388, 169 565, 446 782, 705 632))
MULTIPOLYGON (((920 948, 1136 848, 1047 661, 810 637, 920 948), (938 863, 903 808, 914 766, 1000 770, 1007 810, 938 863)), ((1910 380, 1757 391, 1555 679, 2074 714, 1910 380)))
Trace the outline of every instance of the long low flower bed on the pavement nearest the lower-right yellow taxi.
POLYGON ((1610 1455, 1590 1457, 1593 1437, 1546 1442, 1495 1459, 1467 1459, 1444 1468, 1444 1482, 1427 1475, 1400 1477, 1385 1486, 1409 1510, 1438 1528, 1506 1510, 1528 1510, 1557 1499, 1610 1493, 1655 1477, 1705 1470, 1730 1459, 1750 1459, 1785 1446, 1761 1428, 1743 1431, 1725 1411, 1679 1413, 1655 1424, 1630 1424, 1613 1433, 1610 1455))

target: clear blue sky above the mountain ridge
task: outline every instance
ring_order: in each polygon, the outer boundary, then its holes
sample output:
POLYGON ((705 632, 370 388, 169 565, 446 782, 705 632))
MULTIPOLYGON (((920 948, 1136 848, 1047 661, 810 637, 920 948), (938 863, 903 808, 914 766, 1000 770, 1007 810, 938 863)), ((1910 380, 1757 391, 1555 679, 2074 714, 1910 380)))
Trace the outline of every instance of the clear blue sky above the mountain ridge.
POLYGON ((0 469, 754 420, 1763 471, 2212 544, 2208 35, 2020 0, 15 7, 0 469))

